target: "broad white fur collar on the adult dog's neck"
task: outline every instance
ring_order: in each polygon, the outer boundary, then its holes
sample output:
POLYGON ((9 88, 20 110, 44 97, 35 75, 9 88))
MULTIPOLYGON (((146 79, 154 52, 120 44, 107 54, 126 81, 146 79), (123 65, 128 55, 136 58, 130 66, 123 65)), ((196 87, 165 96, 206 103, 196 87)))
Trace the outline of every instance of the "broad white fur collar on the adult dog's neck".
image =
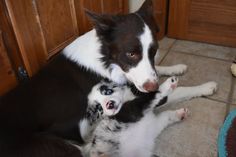
POLYGON ((80 36, 64 50, 63 54, 72 61, 78 63, 79 66, 85 67, 87 70, 111 78, 109 69, 105 69, 100 59, 103 57, 100 53, 101 42, 98 39, 95 29, 80 36))

